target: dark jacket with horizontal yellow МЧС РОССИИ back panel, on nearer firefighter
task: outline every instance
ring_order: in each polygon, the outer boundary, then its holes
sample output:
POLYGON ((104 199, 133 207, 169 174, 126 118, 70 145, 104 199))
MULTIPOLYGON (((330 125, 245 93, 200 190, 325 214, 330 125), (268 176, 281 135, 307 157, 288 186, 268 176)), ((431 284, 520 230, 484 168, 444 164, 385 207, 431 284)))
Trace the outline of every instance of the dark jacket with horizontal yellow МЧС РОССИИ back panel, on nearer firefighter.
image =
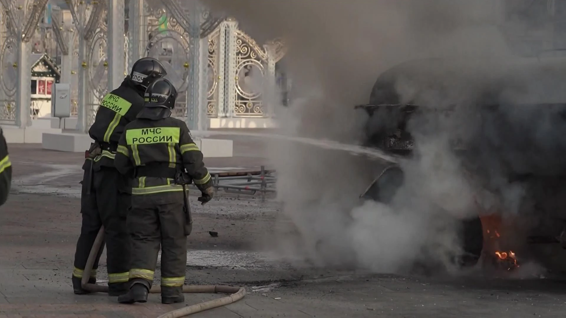
POLYGON ((173 117, 149 119, 140 113, 138 119, 126 125, 114 165, 122 174, 134 178, 132 195, 183 191, 175 183, 180 171, 186 171, 201 191, 212 186, 203 153, 192 140, 187 124, 173 117))

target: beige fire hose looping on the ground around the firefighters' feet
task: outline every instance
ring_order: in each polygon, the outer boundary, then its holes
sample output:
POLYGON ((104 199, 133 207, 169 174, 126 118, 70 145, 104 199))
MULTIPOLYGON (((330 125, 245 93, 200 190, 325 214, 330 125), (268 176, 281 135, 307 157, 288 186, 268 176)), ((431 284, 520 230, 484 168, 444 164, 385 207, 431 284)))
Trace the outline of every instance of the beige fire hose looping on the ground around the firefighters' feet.
MULTIPOLYGON (((104 242, 104 226, 100 228, 98 234, 96 235, 95 243, 92 245, 91 252, 88 255, 87 265, 85 265, 83 277, 81 279, 80 285, 84 290, 91 291, 92 293, 108 293, 108 286, 96 285, 89 283, 89 277, 91 277, 92 267, 95 264, 96 254, 102 247, 104 242)), ((149 293, 161 293, 160 286, 153 286, 149 293)), ((236 286, 222 286, 222 285, 185 285, 183 286, 183 293, 208 293, 208 294, 230 294, 228 296, 208 300, 208 302, 203 302, 200 304, 194 304, 185 308, 180 308, 178 310, 170 311, 164 313, 157 318, 179 318, 192 315, 193 313, 209 310, 212 308, 217 308, 221 306, 226 306, 228 304, 237 302, 238 300, 244 298, 246 295, 246 289, 244 287, 236 286)))

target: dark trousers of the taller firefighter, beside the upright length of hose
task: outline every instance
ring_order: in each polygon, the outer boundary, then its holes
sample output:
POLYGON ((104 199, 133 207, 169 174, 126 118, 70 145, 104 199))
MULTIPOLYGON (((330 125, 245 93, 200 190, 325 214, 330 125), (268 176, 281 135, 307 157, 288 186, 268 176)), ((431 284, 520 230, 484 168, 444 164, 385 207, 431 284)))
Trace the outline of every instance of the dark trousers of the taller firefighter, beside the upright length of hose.
MULTIPOLYGON (((85 169, 80 209, 83 220, 80 237, 76 243, 75 269, 72 276, 82 277, 96 235, 104 225, 110 292, 127 289, 130 237, 127 233, 126 216, 131 205, 131 194, 128 192, 130 190, 127 188, 125 177, 115 168, 100 167, 98 171, 85 169)), ((96 278, 103 247, 104 245, 98 251, 91 280, 96 278)))

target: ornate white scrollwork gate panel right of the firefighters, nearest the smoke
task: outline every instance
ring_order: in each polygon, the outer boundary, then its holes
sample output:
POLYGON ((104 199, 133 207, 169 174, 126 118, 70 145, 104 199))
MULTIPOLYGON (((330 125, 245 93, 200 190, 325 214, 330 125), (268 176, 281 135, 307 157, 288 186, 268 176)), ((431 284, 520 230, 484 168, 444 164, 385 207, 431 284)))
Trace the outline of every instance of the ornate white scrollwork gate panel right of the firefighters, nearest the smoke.
POLYGON ((270 117, 264 92, 275 83, 275 63, 285 55, 284 41, 262 47, 230 18, 208 42, 208 117, 270 117))

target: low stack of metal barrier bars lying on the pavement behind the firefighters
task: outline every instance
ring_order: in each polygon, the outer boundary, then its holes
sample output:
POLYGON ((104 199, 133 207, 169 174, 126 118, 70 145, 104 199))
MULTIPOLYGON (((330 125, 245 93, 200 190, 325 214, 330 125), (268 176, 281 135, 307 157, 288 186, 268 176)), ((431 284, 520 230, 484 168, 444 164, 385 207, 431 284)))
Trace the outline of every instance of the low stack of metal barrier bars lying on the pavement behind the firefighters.
POLYGON ((231 194, 255 195, 260 192, 261 200, 265 200, 268 192, 276 192, 275 170, 265 170, 265 166, 261 166, 259 171, 239 171, 213 173, 212 185, 215 189, 224 190, 231 194))

